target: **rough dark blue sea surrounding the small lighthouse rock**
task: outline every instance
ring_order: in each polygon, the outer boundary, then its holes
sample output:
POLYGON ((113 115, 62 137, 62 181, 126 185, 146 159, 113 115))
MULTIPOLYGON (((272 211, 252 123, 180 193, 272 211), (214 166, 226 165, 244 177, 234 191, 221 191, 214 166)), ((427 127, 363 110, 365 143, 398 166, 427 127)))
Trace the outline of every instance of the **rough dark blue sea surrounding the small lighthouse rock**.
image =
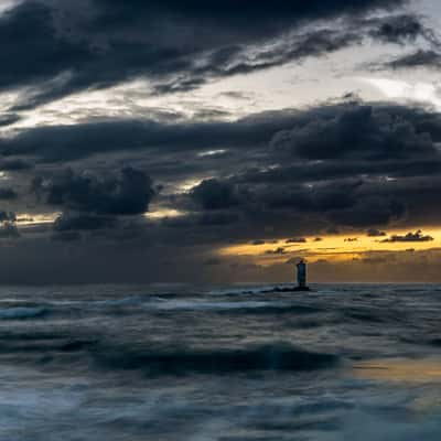
POLYGON ((441 440, 441 286, 0 289, 0 440, 441 440))

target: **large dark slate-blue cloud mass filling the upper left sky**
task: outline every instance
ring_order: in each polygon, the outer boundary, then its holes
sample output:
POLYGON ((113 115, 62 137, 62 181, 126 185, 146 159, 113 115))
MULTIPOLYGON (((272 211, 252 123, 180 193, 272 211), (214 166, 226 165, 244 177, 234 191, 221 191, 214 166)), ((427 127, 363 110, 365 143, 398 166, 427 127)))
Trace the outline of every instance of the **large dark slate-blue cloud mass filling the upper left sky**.
MULTIPOLYGON (((318 20, 357 18, 404 3, 259 0, 238 10, 234 1, 191 1, 183 7, 175 1, 90 0, 75 8, 68 0, 24 1, 0 18, 0 88, 28 88, 26 100, 18 110, 140 76, 150 78, 159 93, 189 89, 212 76, 340 49, 351 39, 315 35, 303 42, 309 51, 302 50, 301 41, 292 42, 292 51, 263 50, 255 56, 248 51, 318 20), (39 57, 30 60, 30 53, 39 57)), ((386 33, 395 37, 396 32, 384 30, 381 37, 386 33)))

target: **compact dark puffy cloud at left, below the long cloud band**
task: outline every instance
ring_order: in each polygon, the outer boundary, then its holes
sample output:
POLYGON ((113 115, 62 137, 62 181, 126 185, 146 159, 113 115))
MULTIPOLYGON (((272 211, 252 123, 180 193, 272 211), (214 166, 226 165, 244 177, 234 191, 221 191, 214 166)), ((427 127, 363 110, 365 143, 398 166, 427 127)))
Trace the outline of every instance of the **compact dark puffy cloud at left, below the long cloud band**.
POLYGON ((36 178, 33 192, 49 205, 110 216, 146 213, 155 194, 151 179, 131 168, 104 176, 67 169, 50 178, 36 178))

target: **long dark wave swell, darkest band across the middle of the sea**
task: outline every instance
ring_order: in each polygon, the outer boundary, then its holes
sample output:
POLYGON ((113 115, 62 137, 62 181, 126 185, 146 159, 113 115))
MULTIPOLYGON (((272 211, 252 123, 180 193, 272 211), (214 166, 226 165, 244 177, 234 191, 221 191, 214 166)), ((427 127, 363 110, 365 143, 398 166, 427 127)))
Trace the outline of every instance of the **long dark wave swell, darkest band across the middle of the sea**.
POLYGON ((93 356, 107 369, 142 369, 149 374, 227 374, 250 370, 313 370, 334 366, 334 354, 309 352, 288 344, 240 349, 128 351, 96 347, 93 356))

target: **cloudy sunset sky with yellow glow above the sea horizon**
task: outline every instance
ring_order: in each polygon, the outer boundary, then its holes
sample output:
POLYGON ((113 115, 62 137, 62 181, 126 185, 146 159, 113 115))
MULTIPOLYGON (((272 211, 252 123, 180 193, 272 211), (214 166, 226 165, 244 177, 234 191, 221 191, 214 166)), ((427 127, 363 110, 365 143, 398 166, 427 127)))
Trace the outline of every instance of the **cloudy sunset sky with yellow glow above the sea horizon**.
POLYGON ((0 283, 441 282, 437 0, 0 0, 0 283))

